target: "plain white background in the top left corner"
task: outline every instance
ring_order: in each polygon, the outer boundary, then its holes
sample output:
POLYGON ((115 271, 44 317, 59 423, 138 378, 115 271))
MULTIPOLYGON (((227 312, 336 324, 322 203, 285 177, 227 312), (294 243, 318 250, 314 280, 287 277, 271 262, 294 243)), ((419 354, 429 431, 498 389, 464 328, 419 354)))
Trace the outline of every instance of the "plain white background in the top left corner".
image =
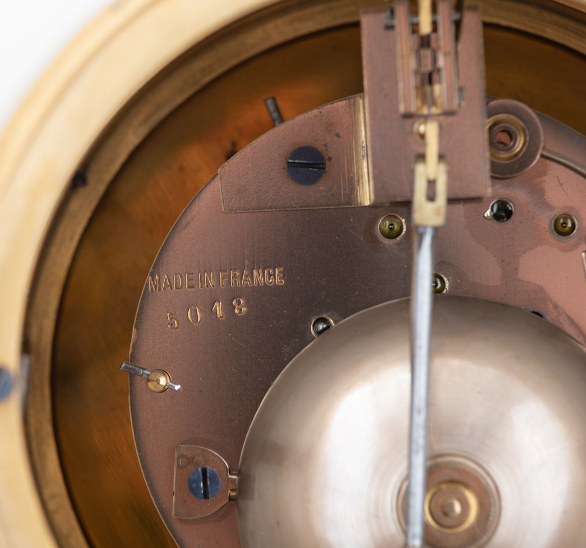
POLYGON ((112 0, 0 0, 0 132, 59 52, 112 0))

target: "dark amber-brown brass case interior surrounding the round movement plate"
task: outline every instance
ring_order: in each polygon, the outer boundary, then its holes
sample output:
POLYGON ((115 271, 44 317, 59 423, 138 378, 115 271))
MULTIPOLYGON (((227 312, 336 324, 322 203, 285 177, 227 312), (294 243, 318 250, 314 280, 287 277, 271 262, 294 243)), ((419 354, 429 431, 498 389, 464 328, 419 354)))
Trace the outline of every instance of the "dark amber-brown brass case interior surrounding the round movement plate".
MULTIPOLYGON (((490 95, 522 100, 586 133, 584 111, 576 108, 582 100, 580 78, 586 75, 581 56, 498 27, 485 29, 485 44, 490 95), (533 66, 536 58, 539 71, 533 66), (568 74, 572 78, 565 78, 568 74), (550 85, 552 81, 556 81, 555 87, 550 85), (560 95, 566 100, 559 101, 560 95)), ((291 118, 361 90, 356 26, 298 40, 234 69, 163 121, 115 177, 87 230, 83 229, 87 217, 79 214, 85 207, 81 204, 88 197, 98 200, 101 191, 96 194, 93 183, 98 175, 110 171, 108 160, 92 167, 94 156, 90 156, 90 184, 66 196, 65 214, 49 233, 32 287, 26 332, 35 364, 34 382, 47 386, 52 376, 53 400, 37 398, 38 391, 34 392, 35 398, 29 399, 28 423, 30 432, 36 433, 31 439, 39 461, 49 463, 53 449, 42 441, 47 438, 39 425, 46 420, 43 417, 50 416, 47 406, 53 406, 60 464, 75 511, 93 546, 175 546, 135 460, 127 416, 127 380, 124 375, 108 375, 108 389, 103 389, 104 371, 128 357, 144 274, 165 235, 193 194, 223 163, 231 142, 240 149, 271 128, 262 104, 265 97, 276 95, 284 117, 291 118), (183 171, 186 168, 189 176, 183 171), (76 246, 76 234, 81 232, 69 270, 69 251, 64 255, 64 249, 76 246), (113 310, 117 311, 114 318, 113 310), (87 427, 80 430, 80 422, 87 427)), ((151 117, 143 123, 155 122, 158 119, 151 117)), ((132 130, 132 135, 137 133, 132 130)), ((115 149, 119 143, 108 146, 115 149)), ((53 472, 46 471, 39 482, 49 485, 53 477, 53 472)), ((53 506, 52 511, 55 509, 53 506)))

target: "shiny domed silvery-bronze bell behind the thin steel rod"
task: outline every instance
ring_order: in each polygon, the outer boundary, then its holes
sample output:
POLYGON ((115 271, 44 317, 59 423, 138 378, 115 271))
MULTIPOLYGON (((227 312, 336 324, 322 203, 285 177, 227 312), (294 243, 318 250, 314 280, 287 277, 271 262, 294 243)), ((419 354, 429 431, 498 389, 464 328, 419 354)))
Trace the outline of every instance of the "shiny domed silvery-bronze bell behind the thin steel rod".
MULTIPOLYGON (((243 548, 401 545, 409 306, 340 322, 272 385, 240 460, 243 548)), ((478 516, 429 546, 584 545, 586 349, 516 307, 437 296, 432 355, 428 508, 442 489, 478 516)))

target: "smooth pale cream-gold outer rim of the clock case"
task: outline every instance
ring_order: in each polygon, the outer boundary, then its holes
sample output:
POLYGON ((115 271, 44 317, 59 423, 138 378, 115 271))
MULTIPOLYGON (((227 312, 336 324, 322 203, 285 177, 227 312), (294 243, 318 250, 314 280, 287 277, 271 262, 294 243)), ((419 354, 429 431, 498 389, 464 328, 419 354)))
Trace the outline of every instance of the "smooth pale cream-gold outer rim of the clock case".
POLYGON ((39 246, 71 174, 108 121, 159 70, 273 3, 119 1, 64 50, 6 126, 0 138, 0 364, 15 388, 0 402, 0 546, 56 546, 26 447, 21 337, 39 246), (121 63, 121 52, 132 63, 121 63))

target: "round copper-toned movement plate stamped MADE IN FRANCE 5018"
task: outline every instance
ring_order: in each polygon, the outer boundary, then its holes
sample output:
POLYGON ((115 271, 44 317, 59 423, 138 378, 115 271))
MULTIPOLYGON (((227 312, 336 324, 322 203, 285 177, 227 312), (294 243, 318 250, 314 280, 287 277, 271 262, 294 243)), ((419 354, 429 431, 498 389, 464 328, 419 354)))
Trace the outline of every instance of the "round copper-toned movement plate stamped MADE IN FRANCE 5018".
MULTIPOLYGON (((180 215, 145 280, 130 361, 167 372, 181 389, 155 393, 132 375, 132 424, 148 487, 184 548, 210 539, 222 546, 244 541, 233 502, 195 519, 205 513, 188 485, 198 466, 193 463, 193 470, 178 474, 178 447, 207 448, 222 455, 226 474, 237 471, 254 414, 288 362, 311 341, 330 338, 344 318, 410 293, 410 206, 363 205, 366 179, 357 153, 362 149, 356 146, 361 101, 351 97, 291 119, 231 158, 180 215), (299 146, 311 146, 325 159, 323 169, 321 156, 317 167, 310 166, 321 174, 314 184, 299 184, 288 173, 288 159, 299 146), (353 166, 351 177, 345 176, 347 166, 353 166), (403 224, 397 238, 381 233, 388 215, 403 224), (319 321, 324 318, 330 326, 325 330, 319 321)), ((506 300, 542 314, 584 342, 586 186, 569 159, 579 158, 586 145, 577 133, 537 116, 545 145, 563 153, 564 162, 541 156, 522 176, 493 180, 490 198, 451 201, 445 227, 438 230, 435 268, 448 296, 506 300), (485 217, 494 200, 513 205, 506 222, 485 217), (572 215, 578 227, 567 237, 554 231, 560 214, 572 215)), ((462 344, 468 345, 468 339, 462 344)), ((493 351, 500 351, 496 343, 493 351)), ((406 378, 403 385, 408 385, 406 378)), ((406 410, 397 409, 397 428, 406 416, 406 410)), ((479 412, 476 427, 489 429, 482 422, 485 416, 479 412)), ((366 419, 378 420, 376 414, 360 420, 366 419)), ((399 471, 403 461, 397 459, 370 464, 399 471)), ((349 460, 359 467, 353 474, 364 470, 360 459, 350 455, 349 460)), ((493 468, 477 464, 501 489, 493 468)), ((396 480, 387 500, 396 501, 403 477, 396 480)), ((222 497, 226 501, 224 492, 222 497)), ((289 502, 271 499, 271 504, 289 502)), ((398 532, 398 513, 393 516, 394 525, 386 526, 398 532)), ((547 544, 536 539, 533 546, 547 544)))

